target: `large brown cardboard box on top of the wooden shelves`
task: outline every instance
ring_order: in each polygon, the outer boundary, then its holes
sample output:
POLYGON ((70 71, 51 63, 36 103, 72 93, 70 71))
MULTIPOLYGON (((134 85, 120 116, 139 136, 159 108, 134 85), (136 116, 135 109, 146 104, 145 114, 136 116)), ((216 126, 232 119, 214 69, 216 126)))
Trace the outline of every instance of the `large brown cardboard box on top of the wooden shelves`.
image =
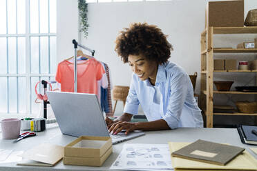
POLYGON ((209 1, 205 12, 205 27, 243 27, 244 1, 209 1))

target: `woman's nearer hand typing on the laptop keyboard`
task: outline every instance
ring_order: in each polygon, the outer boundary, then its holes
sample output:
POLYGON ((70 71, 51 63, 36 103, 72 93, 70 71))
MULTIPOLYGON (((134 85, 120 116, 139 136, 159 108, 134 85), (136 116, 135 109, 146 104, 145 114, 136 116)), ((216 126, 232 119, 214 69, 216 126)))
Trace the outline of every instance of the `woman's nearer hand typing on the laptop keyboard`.
POLYGON ((128 134, 129 132, 132 132, 136 129, 136 124, 132 122, 126 122, 126 121, 117 121, 111 125, 111 128, 109 128, 109 132, 112 132, 113 134, 117 134, 121 132, 122 130, 126 130, 125 134, 128 134))

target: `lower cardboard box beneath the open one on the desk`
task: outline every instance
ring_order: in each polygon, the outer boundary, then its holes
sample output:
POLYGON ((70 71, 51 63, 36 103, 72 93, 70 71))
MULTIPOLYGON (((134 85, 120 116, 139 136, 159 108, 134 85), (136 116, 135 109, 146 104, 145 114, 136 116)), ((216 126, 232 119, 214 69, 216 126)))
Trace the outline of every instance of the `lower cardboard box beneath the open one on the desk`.
POLYGON ((111 155, 113 152, 113 147, 110 147, 104 155, 100 158, 90 158, 90 157, 65 157, 65 165, 90 165, 90 166, 101 166, 104 161, 111 155))

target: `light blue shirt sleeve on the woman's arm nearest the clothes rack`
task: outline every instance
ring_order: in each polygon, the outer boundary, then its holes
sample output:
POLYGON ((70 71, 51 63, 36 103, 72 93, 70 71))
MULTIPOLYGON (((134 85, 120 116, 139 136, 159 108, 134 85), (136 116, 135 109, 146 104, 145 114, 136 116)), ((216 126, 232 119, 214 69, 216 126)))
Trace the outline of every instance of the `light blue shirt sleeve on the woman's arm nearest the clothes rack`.
POLYGON ((128 97, 126 97, 126 104, 124 107, 124 113, 137 114, 139 101, 137 98, 137 92, 135 91, 135 78, 132 76, 131 85, 129 86, 128 97))

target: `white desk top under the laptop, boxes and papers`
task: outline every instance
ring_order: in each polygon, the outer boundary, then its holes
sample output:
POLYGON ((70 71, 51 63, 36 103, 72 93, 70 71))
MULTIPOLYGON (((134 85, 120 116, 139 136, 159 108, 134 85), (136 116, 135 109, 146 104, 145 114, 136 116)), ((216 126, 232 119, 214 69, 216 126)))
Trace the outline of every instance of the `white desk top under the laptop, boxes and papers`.
MULTIPOLYGON (((40 143, 53 143, 57 145, 67 145, 73 141, 75 137, 70 137, 61 134, 57 124, 50 125, 44 132, 38 132, 36 137, 23 139, 18 143, 12 143, 13 140, 1 139, 0 133, 0 148, 26 150, 40 143)), ((254 145, 244 145, 240 141, 240 137, 236 129, 230 128, 179 128, 177 130, 162 130, 146 132, 146 135, 125 141, 124 143, 168 143, 169 141, 184 141, 192 142, 198 139, 207 141, 215 141, 217 143, 229 143, 238 145, 249 150, 249 147, 254 145)), ((19 166, 16 163, 1 163, 0 170, 109 170, 111 164, 115 161, 118 154, 122 150, 124 143, 113 145, 113 154, 105 161, 102 167, 88 167, 77 165, 64 165, 62 161, 57 163, 55 167, 34 167, 34 166, 19 166)), ((250 150, 249 150, 250 151, 250 150)), ((250 151, 251 154, 254 154, 250 151)), ((254 154, 254 157, 257 156, 254 154)))

